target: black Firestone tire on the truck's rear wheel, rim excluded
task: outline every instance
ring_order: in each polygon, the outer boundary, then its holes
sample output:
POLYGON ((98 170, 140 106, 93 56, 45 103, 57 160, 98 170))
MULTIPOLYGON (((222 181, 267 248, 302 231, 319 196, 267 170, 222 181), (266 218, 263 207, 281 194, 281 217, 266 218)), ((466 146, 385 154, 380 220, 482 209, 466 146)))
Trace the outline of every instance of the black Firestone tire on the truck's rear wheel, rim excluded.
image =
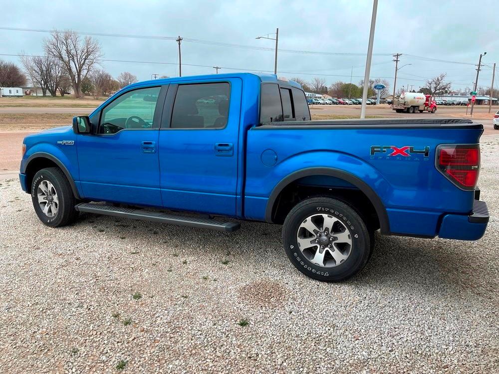
POLYGON ((313 197, 301 201, 291 209, 282 228, 284 250, 292 264, 306 276, 326 282, 343 281, 364 268, 371 254, 371 236, 374 238, 374 235, 369 234, 360 215, 352 207, 330 197, 313 197), (300 225, 309 217, 319 214, 326 214, 328 217, 338 219, 343 227, 347 227, 349 230, 352 242, 349 247, 349 255, 344 262, 333 267, 312 263, 299 248, 297 235, 300 225))

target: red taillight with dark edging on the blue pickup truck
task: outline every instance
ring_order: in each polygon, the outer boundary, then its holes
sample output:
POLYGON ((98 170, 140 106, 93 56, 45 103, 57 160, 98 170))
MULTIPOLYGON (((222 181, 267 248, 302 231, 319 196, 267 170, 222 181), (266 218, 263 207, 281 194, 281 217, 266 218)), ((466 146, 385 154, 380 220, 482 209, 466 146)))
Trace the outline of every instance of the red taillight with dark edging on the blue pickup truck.
POLYGON ((478 144, 439 146, 437 167, 456 186, 475 189, 480 170, 480 146, 478 144))

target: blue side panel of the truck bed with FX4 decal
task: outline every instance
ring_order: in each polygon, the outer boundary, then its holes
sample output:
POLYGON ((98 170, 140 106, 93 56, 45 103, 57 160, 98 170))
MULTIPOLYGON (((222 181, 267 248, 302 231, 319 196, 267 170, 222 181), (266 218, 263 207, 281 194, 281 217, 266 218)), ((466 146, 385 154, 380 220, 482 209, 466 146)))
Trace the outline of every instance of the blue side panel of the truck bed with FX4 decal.
POLYGON ((252 128, 248 134, 245 215, 264 219, 272 189, 297 170, 329 167, 356 176, 371 187, 387 209, 390 231, 433 235, 443 212, 468 213, 474 192, 453 185, 435 167, 440 144, 476 144, 479 129, 279 129, 252 128), (430 148, 428 157, 371 156, 371 146, 430 148), (277 162, 267 167, 263 151, 277 162), (419 220, 418 227, 414 220, 419 220))

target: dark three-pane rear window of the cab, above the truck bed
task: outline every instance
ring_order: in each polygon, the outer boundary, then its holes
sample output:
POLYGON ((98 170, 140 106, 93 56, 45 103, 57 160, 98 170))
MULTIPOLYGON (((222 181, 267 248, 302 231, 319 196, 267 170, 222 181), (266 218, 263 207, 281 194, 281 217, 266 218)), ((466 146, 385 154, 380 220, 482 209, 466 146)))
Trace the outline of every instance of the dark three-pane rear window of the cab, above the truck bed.
POLYGON ((278 83, 263 83, 260 89, 260 124, 310 120, 305 93, 278 83))

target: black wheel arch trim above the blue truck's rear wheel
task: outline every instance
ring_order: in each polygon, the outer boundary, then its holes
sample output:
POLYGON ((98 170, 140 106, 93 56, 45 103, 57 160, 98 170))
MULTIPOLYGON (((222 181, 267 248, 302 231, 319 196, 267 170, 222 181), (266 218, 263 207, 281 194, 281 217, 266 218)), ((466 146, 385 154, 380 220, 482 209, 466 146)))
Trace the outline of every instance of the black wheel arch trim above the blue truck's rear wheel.
POLYGON ((277 206, 278 197, 285 187, 292 185, 294 182, 304 177, 312 177, 312 176, 334 177, 343 180, 353 185, 354 187, 358 188, 359 191, 361 191, 373 205, 374 210, 376 211, 376 215, 378 216, 381 233, 382 234, 390 233, 390 223, 388 220, 388 214, 386 212, 385 205, 383 204, 378 194, 360 178, 350 173, 347 173, 343 170, 334 169, 334 168, 325 168, 325 167, 314 167, 314 168, 306 168, 298 170, 283 178, 272 189, 272 192, 270 193, 270 196, 267 200, 267 204, 265 207, 265 221, 269 223, 275 223, 274 213, 275 213, 275 208, 277 206))

